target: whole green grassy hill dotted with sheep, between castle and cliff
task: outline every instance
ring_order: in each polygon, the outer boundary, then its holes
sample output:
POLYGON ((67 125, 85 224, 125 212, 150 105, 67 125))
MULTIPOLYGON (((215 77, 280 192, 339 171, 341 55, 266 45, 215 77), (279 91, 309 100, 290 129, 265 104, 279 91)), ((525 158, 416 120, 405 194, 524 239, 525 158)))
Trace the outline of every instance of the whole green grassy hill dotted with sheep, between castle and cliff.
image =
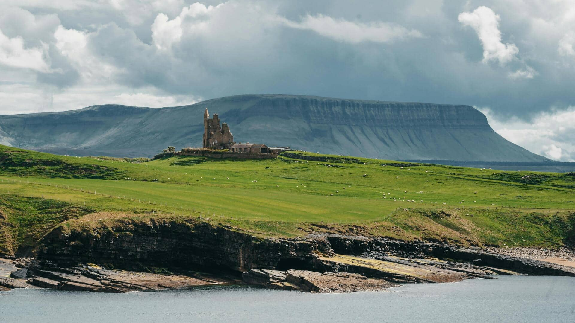
POLYGON ((271 236, 332 232, 462 245, 575 236, 575 174, 288 152, 271 160, 58 156, 0 146, 0 252, 57 225, 202 217, 271 236))

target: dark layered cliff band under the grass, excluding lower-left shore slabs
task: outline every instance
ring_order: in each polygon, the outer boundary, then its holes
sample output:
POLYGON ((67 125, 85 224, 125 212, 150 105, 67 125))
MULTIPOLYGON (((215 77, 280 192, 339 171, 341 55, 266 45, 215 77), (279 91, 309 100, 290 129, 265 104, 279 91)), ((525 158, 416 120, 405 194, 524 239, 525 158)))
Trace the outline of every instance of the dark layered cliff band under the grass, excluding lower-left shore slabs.
POLYGON ((350 272, 394 283, 449 282, 502 272, 494 268, 575 276, 573 268, 500 256, 480 248, 335 234, 274 239, 202 220, 153 218, 117 220, 112 226, 60 226, 40 241, 37 257, 61 266, 99 263, 130 270, 162 267, 227 275, 252 269, 350 272), (427 257, 434 258, 421 260, 427 257))

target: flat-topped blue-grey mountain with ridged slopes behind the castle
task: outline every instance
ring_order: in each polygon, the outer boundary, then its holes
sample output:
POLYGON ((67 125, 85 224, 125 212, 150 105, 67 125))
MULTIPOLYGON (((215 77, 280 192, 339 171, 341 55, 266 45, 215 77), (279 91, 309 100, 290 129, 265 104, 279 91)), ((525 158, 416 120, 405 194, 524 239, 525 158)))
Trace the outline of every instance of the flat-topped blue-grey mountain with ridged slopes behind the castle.
POLYGON ((235 141, 393 160, 548 161, 466 105, 246 94, 151 109, 123 105, 0 116, 0 144, 70 155, 152 156, 201 147, 206 107, 235 141))

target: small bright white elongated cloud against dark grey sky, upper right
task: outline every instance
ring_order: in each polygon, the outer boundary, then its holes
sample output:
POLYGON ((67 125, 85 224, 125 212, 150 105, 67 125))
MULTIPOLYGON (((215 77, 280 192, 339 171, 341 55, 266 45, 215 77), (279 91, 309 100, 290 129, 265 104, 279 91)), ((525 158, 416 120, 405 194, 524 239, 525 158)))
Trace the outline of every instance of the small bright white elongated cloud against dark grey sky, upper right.
POLYGON ((460 13, 457 17, 461 24, 476 31, 483 45, 483 61, 496 60, 504 65, 515 59, 519 49, 515 44, 501 43, 500 19, 498 14, 486 6, 477 7, 472 12, 460 13))

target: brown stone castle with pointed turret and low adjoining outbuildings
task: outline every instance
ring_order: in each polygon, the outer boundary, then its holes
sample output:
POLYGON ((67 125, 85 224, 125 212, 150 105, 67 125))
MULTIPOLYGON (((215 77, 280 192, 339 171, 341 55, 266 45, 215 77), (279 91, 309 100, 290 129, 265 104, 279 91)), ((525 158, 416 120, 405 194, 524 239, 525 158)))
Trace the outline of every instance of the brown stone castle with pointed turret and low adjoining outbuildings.
POLYGON ((264 144, 235 143, 233 134, 225 122, 220 126, 220 118, 214 113, 210 118, 208 108, 204 111, 204 140, 202 147, 212 149, 227 149, 231 152, 274 153, 286 151, 289 147, 267 147, 264 144))

